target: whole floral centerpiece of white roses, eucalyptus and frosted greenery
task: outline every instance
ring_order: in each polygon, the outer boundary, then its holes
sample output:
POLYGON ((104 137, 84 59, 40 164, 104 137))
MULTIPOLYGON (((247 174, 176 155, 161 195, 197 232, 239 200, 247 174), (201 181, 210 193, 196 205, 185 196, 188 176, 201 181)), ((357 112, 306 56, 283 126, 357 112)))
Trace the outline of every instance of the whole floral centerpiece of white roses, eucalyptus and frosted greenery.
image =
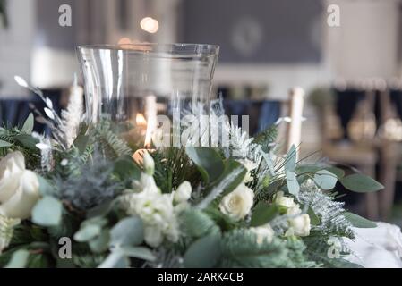
MULTIPOLYGON (((278 154, 276 126, 254 138, 216 122, 226 147, 136 147, 104 118, 87 124, 71 98, 59 117, 46 103, 38 120, 52 138, 0 128, 0 265, 8 267, 354 267, 345 238, 375 227, 347 212, 333 189, 381 184, 360 173, 278 154), (76 120, 77 118, 81 120, 76 120)), ((207 110, 208 109, 208 110, 207 110)))

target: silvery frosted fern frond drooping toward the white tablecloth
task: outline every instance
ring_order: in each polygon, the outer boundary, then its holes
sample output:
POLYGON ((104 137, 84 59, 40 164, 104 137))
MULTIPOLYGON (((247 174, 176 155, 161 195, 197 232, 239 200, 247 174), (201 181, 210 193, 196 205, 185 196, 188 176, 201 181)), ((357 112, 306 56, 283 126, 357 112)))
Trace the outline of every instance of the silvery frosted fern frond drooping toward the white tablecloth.
POLYGON ((319 225, 312 227, 312 230, 350 239, 355 238, 352 224, 343 215, 345 203, 337 202, 331 196, 324 194, 311 180, 302 184, 299 199, 302 204, 310 206, 321 220, 319 225))

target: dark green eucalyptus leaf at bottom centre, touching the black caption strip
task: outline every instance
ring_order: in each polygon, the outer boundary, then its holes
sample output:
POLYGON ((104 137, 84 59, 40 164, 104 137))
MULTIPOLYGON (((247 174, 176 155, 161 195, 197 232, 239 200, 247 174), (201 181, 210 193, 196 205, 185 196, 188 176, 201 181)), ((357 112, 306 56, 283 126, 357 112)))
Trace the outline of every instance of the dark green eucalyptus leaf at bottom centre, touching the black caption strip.
POLYGON ((189 268, 214 267, 220 257, 220 234, 209 235, 195 240, 184 254, 184 266, 189 268))

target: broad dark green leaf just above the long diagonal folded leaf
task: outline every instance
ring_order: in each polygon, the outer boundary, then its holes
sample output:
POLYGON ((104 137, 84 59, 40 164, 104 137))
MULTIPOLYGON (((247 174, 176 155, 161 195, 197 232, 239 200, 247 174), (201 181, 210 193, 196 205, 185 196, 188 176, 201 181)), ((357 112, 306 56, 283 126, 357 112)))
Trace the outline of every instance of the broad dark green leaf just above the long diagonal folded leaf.
POLYGON ((217 151, 210 147, 186 147, 185 152, 201 172, 205 182, 215 181, 224 172, 224 164, 217 151))

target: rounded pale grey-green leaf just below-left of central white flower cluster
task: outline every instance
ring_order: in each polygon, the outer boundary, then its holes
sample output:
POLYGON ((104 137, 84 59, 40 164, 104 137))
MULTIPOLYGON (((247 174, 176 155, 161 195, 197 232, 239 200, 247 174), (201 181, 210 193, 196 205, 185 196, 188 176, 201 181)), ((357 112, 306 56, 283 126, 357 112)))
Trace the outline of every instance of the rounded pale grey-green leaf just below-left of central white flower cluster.
POLYGON ((144 240, 144 230, 141 218, 127 217, 121 220, 110 231, 110 246, 137 246, 144 240))

